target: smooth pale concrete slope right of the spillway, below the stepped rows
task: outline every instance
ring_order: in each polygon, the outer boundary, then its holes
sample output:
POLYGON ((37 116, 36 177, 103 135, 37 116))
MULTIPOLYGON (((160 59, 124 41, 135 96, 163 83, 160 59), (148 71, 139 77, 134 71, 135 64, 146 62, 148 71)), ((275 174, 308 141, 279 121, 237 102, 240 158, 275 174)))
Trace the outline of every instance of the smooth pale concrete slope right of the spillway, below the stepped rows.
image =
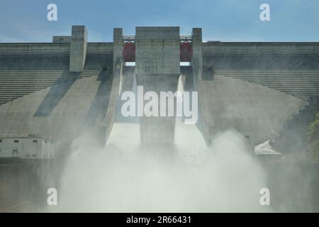
POLYGON ((201 83, 208 108, 209 121, 213 121, 213 137, 218 132, 235 129, 252 134, 252 143, 273 140, 282 127, 306 101, 259 84, 231 77, 216 76, 213 81, 201 83))

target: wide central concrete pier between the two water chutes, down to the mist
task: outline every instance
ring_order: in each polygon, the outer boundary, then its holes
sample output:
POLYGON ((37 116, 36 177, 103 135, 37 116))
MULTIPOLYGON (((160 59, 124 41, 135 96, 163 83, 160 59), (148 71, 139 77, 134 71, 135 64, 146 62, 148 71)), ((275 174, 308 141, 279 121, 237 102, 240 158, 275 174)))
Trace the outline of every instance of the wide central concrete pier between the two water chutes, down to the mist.
MULTIPOLYGON (((157 96, 159 92, 176 92, 180 74, 179 27, 137 27, 135 42, 138 86, 143 86, 144 93, 152 91, 157 96)), ((140 117, 141 140, 147 150, 167 149, 174 142, 174 129, 174 116, 140 117)))

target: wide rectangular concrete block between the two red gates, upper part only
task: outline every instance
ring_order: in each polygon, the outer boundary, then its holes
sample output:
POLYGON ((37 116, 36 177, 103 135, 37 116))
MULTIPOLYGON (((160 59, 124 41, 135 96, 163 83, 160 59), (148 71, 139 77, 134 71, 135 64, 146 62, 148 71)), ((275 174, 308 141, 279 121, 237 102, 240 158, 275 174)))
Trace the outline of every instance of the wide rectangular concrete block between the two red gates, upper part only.
POLYGON ((136 27, 135 73, 179 74, 179 27, 136 27))

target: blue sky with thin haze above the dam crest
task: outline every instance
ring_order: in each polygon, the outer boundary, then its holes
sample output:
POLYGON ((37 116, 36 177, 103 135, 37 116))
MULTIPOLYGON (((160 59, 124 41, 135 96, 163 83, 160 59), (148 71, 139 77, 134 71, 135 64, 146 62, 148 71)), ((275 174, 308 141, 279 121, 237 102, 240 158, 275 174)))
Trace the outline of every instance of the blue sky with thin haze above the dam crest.
POLYGON ((204 40, 319 41, 319 0, 0 0, 0 42, 51 42, 85 25, 90 42, 111 42, 113 28, 135 34, 135 26, 180 26, 181 34, 203 28, 204 40), (57 21, 47 21, 47 4, 57 21), (260 21, 259 6, 271 21, 260 21))

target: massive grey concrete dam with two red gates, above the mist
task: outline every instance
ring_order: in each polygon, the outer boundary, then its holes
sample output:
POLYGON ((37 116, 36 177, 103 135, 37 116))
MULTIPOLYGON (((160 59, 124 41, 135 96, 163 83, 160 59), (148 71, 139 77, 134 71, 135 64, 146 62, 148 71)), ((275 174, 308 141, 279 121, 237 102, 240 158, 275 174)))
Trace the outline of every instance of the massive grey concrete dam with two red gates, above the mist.
MULTIPOLYGON (((207 146, 233 130, 251 155, 268 140, 278 153, 306 147, 308 123, 319 110, 319 43, 203 42, 201 28, 181 35, 179 27, 136 27, 135 35, 114 28, 113 43, 87 38, 85 26, 72 26, 71 35, 53 36, 52 43, 0 43, 2 195, 29 179, 40 185, 29 191, 45 196, 72 141, 87 137, 104 147, 117 122, 139 124, 145 153, 173 151, 175 116, 121 116, 121 95, 138 94, 138 87, 157 96, 180 87, 196 92, 195 126, 207 146)), ((1 209, 15 203, 5 197, 1 209)))

